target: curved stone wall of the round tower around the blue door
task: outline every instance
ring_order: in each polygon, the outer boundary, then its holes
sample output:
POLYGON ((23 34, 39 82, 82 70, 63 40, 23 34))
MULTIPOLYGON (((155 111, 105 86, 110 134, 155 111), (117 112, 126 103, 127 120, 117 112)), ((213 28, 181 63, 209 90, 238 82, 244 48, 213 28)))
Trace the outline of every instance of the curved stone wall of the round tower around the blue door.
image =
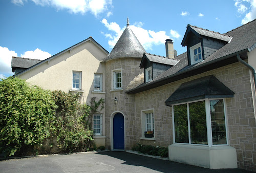
POLYGON ((125 94, 127 85, 135 76, 143 73, 143 69, 139 68, 140 58, 120 58, 106 62, 106 95, 105 95, 105 136, 106 147, 111 148, 113 145, 111 134, 111 117, 113 113, 120 112, 124 116, 125 122, 125 149, 131 149, 135 145, 135 101, 134 95, 125 94), (112 70, 122 69, 122 89, 112 90, 112 70), (114 104, 115 97, 118 99, 114 104))

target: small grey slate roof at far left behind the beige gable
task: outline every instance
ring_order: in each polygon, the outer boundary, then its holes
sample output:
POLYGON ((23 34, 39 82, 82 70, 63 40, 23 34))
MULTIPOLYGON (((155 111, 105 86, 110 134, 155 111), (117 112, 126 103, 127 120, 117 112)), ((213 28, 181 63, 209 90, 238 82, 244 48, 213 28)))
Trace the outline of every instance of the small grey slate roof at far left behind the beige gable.
POLYGON ((12 56, 12 68, 25 68, 28 69, 31 66, 34 66, 34 64, 37 64, 42 60, 40 59, 29 59, 29 58, 21 58, 21 57, 15 57, 12 56))

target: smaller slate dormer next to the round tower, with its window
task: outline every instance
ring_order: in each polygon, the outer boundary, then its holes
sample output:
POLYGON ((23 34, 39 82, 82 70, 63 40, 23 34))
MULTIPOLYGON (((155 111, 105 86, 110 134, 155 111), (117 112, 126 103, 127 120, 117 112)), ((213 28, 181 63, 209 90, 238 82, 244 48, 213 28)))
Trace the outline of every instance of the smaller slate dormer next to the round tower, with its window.
POLYGON ((143 53, 140 68, 144 68, 144 82, 151 81, 157 76, 175 66, 179 60, 169 59, 164 56, 143 53))

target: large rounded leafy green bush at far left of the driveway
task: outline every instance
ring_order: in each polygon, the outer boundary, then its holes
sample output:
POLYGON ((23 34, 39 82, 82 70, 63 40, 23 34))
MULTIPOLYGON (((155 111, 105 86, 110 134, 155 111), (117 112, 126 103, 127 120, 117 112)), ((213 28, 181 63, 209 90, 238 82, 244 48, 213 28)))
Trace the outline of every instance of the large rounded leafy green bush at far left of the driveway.
POLYGON ((0 152, 26 154, 39 145, 53 130, 56 108, 50 91, 19 78, 0 81, 0 152))

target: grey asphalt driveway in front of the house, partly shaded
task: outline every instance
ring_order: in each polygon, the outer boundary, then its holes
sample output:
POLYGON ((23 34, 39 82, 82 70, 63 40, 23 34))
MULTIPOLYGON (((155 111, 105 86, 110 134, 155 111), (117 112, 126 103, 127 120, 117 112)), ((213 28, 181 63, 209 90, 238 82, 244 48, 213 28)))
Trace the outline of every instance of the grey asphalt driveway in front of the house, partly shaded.
POLYGON ((126 152, 48 155, 0 161, 0 172, 246 172, 211 170, 126 152))

